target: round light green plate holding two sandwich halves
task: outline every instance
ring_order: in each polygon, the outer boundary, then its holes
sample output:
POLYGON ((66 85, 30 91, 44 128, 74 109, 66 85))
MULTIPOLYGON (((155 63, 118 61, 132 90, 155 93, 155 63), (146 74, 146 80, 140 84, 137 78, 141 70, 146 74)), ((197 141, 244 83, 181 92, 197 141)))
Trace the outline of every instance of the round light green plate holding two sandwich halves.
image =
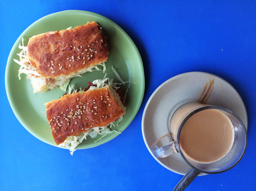
MULTIPOLYGON (((21 74, 21 80, 18 78, 19 65, 13 61, 19 59, 16 53, 20 52, 18 48, 21 38, 24 44, 33 35, 45 33, 47 31, 56 31, 66 29, 70 26, 76 27, 86 24, 88 21, 96 21, 103 28, 104 34, 107 36, 110 53, 106 62, 107 77, 113 78, 114 82, 119 82, 115 73, 112 72, 111 65, 117 69, 124 81, 129 81, 125 85, 121 85, 121 91, 125 93, 129 88, 126 98, 126 114, 123 120, 117 126, 113 126, 112 130, 122 132, 132 122, 139 110, 144 94, 145 79, 144 70, 140 53, 130 37, 113 21, 108 18, 88 12, 78 10, 68 10, 47 15, 29 26, 15 42, 5 71, 5 88, 12 110, 20 121, 20 123, 35 137, 41 141, 56 146, 52 132, 50 131, 48 121, 46 119, 46 109, 44 103, 58 99, 65 92, 60 88, 55 88, 45 93, 33 94, 33 88, 30 80, 26 79, 26 74, 21 74)), ((75 88, 85 88, 88 81, 103 78, 105 74, 102 71, 87 72, 83 77, 73 78, 70 84, 75 84, 75 88)), ((119 135, 112 132, 102 138, 98 142, 94 142, 96 138, 88 136, 78 145, 77 149, 86 149, 96 147, 106 143, 119 135)))

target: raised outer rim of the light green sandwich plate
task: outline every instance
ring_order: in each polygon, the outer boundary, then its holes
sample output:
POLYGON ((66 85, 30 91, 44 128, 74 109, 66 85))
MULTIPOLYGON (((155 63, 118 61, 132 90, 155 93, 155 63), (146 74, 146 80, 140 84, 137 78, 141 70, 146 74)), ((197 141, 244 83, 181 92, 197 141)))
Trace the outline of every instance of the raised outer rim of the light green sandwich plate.
MULTIPOLYGON (((90 12, 90 11, 83 11, 83 10, 65 10, 65 11, 59 11, 59 12, 55 12, 55 13, 52 13, 52 14, 49 14, 49 15, 45 15, 41 18, 39 18, 38 20, 36 20, 35 22, 33 22, 32 24, 30 24, 30 26, 28 26, 21 34, 20 36, 17 38, 17 40, 15 41, 15 43, 13 44, 12 46, 12 49, 10 50, 10 53, 9 53, 9 56, 8 56, 8 59, 7 59, 7 63, 6 63, 6 67, 5 67, 5 91, 6 91, 6 94, 7 94, 7 98, 8 98, 8 101, 9 101, 9 104, 11 106, 11 109, 15 115, 15 117, 18 119, 18 121, 20 122, 20 124, 31 134, 33 135, 34 137, 36 137, 37 139, 39 139, 40 141, 43 141, 44 143, 47 143, 49 145, 53 145, 55 147, 57 147, 56 144, 53 143, 50 143, 48 141, 46 141, 43 136, 38 136, 36 133, 34 133, 30 127, 27 127, 25 125, 25 123, 23 122, 24 119, 23 117, 21 117, 21 115, 19 114, 19 111, 17 111, 14 107, 15 107, 15 104, 14 104, 14 100, 11 99, 10 97, 10 88, 8 86, 8 82, 7 82, 7 78, 9 76, 8 74, 8 70, 9 70, 9 67, 10 67, 10 62, 12 60, 12 55, 15 54, 14 52, 14 49, 16 48, 18 42, 21 41, 21 38, 22 36, 24 36, 24 34, 27 33, 28 30, 30 30, 31 28, 35 27, 37 25, 38 22, 41 22, 42 20, 45 19, 45 17, 50 17, 50 16, 55 16, 55 15, 58 15, 58 14, 83 14, 83 15, 89 15, 89 16, 93 16, 95 18, 100 18, 100 19, 104 19, 106 21, 108 21, 113 27, 115 27, 118 31, 120 31, 122 33, 122 35, 124 35, 124 37, 130 42, 132 48, 134 49, 136 55, 138 56, 138 63, 139 63, 139 66, 141 68, 141 81, 140 81, 140 94, 139 94, 139 99, 138 99, 138 104, 136 106, 136 109, 132 111, 131 113, 131 117, 130 119, 128 120, 127 122, 127 125, 126 127, 123 129, 123 131, 129 126, 129 124, 133 121, 133 119, 135 118, 136 114, 138 113, 139 109, 140 109, 140 106, 141 106, 141 103, 143 101, 143 97, 144 97, 144 93, 145 93, 145 74, 144 74, 144 66, 143 66, 143 61, 142 61, 142 58, 141 58, 141 55, 139 53, 139 50, 138 48, 136 47, 134 41, 130 38, 130 36, 118 25, 116 24, 115 22, 113 22, 112 20, 110 20, 109 18, 103 16, 103 15, 100 15, 98 13, 94 13, 94 12, 90 12)), ((89 146, 87 147, 86 145, 84 145, 83 148, 77 148, 77 149, 88 149, 88 148, 93 148, 93 147, 97 147, 101 144, 104 144, 108 141, 111 141, 112 139, 114 139, 115 137, 117 137, 119 135, 119 133, 116 133, 115 136, 113 138, 111 138, 110 140, 106 140, 104 141, 103 143, 100 143, 100 142, 97 142, 95 145, 93 146, 89 146)), ((103 139, 104 140, 104 139, 103 139)), ((63 147, 60 147, 60 148, 63 148, 63 147)), ((63 148, 63 149, 69 149, 69 148, 63 148)))

